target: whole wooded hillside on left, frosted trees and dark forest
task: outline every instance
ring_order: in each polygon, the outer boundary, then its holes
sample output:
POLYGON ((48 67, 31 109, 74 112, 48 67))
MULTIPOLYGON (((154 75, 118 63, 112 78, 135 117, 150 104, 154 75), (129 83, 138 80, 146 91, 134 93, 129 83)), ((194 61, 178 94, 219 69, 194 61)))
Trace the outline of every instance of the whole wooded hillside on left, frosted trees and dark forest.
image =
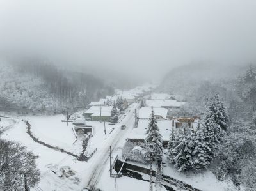
POLYGON ((102 79, 83 72, 60 69, 52 63, 26 60, 0 64, 0 109, 26 113, 60 113, 84 108, 113 94, 102 79))

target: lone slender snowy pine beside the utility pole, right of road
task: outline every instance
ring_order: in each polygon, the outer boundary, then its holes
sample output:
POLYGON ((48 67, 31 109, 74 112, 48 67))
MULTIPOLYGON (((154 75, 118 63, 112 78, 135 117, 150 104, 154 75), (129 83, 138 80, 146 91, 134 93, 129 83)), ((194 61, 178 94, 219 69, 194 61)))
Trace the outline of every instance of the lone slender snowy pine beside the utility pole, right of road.
POLYGON ((163 139, 159 133, 159 128, 157 126, 157 121, 154 118, 154 111, 152 108, 152 114, 150 116, 150 123, 147 129, 147 137, 144 140, 144 148, 146 151, 146 157, 150 157, 150 152, 152 151, 152 157, 157 160, 161 160, 163 155, 163 139))

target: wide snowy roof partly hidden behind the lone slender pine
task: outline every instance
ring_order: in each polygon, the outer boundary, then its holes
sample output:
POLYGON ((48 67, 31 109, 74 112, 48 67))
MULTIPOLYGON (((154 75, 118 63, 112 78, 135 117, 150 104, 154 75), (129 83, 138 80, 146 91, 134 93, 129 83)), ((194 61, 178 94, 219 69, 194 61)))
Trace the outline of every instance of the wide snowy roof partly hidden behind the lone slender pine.
MULTIPOLYGON (((128 139, 145 139, 147 136, 145 133, 148 129, 149 122, 150 120, 148 119, 140 119, 138 127, 132 129, 132 132, 128 135, 128 139)), ((169 141, 170 134, 172 132, 172 121, 157 121, 157 126, 160 134, 162 135, 163 141, 169 141)))

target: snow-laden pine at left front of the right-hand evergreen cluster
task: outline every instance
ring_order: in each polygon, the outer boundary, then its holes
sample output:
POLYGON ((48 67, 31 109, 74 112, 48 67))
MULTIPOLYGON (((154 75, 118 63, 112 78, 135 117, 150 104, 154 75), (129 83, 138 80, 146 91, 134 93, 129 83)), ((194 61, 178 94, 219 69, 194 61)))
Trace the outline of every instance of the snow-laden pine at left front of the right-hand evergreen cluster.
POLYGON ((193 149, 195 148, 195 142, 193 140, 193 134, 188 124, 181 126, 183 135, 180 135, 178 145, 173 149, 174 165, 178 168, 178 171, 186 171, 193 168, 193 149))

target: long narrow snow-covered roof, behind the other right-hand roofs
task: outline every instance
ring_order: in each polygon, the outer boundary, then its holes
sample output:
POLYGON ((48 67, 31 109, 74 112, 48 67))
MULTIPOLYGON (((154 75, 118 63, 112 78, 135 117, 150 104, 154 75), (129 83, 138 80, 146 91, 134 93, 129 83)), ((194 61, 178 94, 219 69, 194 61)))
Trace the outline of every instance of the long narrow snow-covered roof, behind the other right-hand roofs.
POLYGON ((180 107, 186 102, 178 102, 177 100, 146 100, 148 107, 180 107))

